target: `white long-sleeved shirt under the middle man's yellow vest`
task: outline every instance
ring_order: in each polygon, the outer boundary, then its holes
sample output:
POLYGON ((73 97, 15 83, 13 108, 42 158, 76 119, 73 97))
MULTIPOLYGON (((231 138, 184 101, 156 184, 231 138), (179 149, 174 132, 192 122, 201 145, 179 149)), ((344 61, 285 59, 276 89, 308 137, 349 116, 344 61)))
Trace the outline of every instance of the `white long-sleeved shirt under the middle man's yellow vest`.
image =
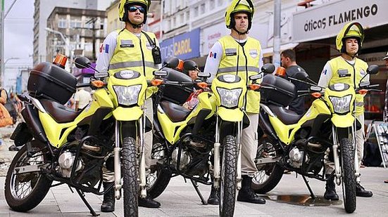
MULTIPOLYGON (((244 43, 246 42, 246 39, 234 39, 237 41, 237 43, 244 43)), ((263 65, 263 53, 260 52, 260 58, 258 60, 258 65, 263 65)), ((209 72, 211 74, 211 77, 208 78, 208 81, 211 82, 215 78, 215 75, 218 72, 218 67, 220 66, 221 58, 223 57, 223 46, 220 44, 219 41, 216 41, 213 47, 211 47, 210 53, 208 55, 208 58, 206 58, 206 64, 204 72, 209 72), (217 55, 210 55, 211 53, 216 53, 217 55)))

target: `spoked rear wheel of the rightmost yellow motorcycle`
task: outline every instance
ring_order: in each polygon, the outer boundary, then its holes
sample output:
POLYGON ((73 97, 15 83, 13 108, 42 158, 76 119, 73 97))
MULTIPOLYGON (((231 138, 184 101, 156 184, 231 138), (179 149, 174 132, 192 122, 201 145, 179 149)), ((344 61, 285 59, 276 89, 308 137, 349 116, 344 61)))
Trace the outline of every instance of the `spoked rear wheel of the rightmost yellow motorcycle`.
MULTIPOLYGON (((265 143, 258 146, 256 160, 267 157, 280 157, 273 144, 265 143)), ((258 194, 265 194, 273 190, 282 179, 284 168, 276 163, 261 164, 256 162, 258 172, 252 178, 251 188, 258 194)))

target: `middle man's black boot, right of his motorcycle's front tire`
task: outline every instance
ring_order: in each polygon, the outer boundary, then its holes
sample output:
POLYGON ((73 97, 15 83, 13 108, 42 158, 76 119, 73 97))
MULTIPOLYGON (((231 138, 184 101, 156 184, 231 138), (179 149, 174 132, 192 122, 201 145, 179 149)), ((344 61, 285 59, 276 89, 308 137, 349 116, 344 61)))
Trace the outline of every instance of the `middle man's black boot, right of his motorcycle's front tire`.
POLYGON ((265 204, 265 199, 256 195, 254 190, 251 188, 251 184, 251 177, 242 176, 242 188, 239 190, 239 195, 237 195, 237 201, 249 202, 253 204, 265 204))

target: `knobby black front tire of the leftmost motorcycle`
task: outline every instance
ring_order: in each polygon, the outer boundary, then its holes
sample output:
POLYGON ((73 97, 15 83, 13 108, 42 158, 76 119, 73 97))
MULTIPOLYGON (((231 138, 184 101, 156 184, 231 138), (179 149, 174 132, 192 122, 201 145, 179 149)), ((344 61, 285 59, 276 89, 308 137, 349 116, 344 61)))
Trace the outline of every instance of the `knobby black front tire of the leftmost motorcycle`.
POLYGON ((124 216, 139 216, 139 181, 137 180, 139 163, 134 138, 123 138, 122 147, 121 164, 123 173, 124 216))

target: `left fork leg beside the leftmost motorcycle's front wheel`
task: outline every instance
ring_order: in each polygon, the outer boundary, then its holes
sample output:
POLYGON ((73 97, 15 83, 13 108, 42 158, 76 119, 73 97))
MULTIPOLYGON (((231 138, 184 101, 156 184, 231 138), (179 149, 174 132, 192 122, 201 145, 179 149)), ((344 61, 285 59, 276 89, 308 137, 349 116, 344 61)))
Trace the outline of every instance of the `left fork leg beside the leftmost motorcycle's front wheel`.
POLYGON ((123 188, 123 183, 121 183, 121 161, 120 161, 120 123, 115 121, 115 147, 113 148, 114 153, 114 162, 115 162, 115 198, 121 198, 121 188, 123 188))

